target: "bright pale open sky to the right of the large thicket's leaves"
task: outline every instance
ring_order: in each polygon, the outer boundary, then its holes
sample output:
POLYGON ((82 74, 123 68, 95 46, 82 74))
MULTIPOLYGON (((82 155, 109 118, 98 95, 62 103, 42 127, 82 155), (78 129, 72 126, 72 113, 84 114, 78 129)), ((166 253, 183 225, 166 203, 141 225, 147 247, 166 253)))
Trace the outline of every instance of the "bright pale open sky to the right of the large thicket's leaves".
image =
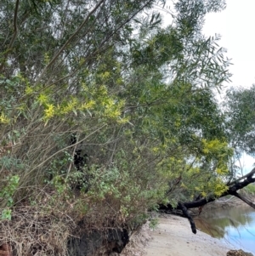
MULTIPOLYGON (((255 84, 255 1, 226 0, 226 3, 224 11, 207 14, 203 32, 207 36, 221 35, 219 45, 227 49, 226 55, 233 64, 229 67, 232 82, 224 86, 249 88, 255 84)), ((244 173, 252 170, 254 162, 252 156, 241 156, 244 173)))

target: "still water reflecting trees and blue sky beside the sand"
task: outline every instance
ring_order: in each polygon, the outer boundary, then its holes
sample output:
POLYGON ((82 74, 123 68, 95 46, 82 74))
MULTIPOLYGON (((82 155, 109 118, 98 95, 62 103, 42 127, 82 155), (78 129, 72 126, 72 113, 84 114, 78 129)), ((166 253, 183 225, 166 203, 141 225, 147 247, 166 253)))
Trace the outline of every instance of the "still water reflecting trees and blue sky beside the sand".
POLYGON ((255 209, 247 206, 217 208, 195 218, 196 227, 255 255, 255 209))

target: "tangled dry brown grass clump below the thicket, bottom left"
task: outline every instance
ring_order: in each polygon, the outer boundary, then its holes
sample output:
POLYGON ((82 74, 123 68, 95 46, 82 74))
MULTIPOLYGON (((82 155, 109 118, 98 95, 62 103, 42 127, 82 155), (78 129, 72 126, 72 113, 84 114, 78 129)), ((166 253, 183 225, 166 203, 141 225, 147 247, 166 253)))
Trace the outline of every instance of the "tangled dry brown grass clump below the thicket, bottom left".
POLYGON ((64 256, 74 227, 67 217, 59 219, 40 208, 14 208, 12 220, 0 222, 0 245, 10 245, 13 256, 64 256))

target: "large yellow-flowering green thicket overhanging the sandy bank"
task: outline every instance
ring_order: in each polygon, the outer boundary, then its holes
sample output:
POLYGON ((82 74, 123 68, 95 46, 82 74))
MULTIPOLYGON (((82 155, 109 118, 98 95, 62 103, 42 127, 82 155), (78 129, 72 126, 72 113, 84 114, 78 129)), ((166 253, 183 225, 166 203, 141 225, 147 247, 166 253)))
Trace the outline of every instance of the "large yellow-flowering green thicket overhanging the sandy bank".
POLYGON ((151 9, 164 1, 103 2, 0 3, 0 164, 20 177, 4 181, 5 219, 22 199, 137 223, 157 203, 226 190, 233 151, 214 92, 229 60, 201 33, 224 3, 180 0, 162 28, 151 9))

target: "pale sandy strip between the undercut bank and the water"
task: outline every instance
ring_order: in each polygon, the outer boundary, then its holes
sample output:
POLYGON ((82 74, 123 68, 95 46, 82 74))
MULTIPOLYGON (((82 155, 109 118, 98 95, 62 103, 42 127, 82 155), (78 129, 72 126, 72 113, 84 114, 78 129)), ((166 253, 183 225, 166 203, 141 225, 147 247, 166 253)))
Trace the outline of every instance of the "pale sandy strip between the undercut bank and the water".
POLYGON ((193 234, 188 219, 169 215, 159 219, 144 248, 145 256, 224 256, 233 248, 197 230, 193 234))

